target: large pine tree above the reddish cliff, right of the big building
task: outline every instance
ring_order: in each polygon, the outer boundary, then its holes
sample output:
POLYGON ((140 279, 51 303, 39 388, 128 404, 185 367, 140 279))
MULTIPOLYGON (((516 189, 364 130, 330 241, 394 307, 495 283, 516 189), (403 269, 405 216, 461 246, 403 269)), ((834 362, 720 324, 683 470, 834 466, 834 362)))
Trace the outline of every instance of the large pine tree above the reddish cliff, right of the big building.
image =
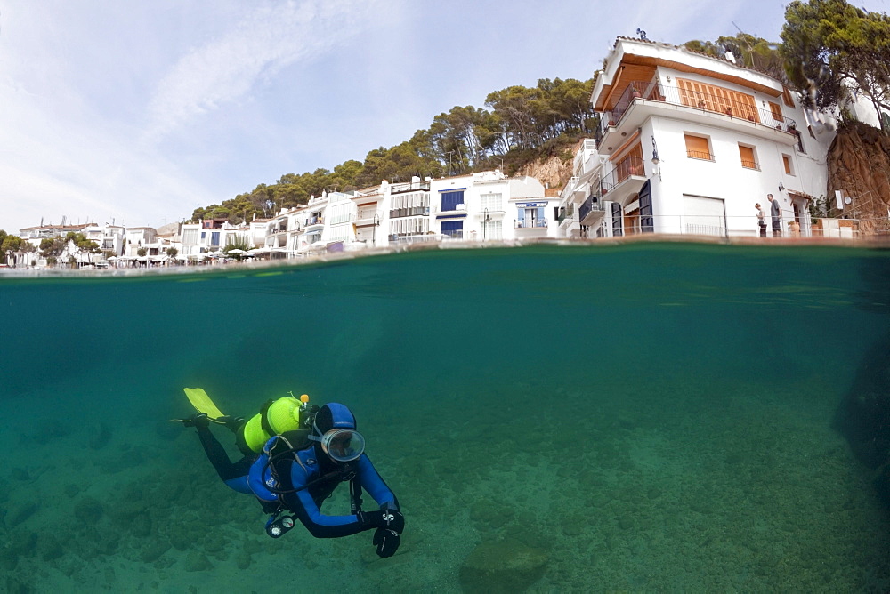
POLYGON ((890 18, 845 0, 795 0, 785 10, 781 54, 805 105, 842 104, 852 86, 866 92, 880 117, 890 109, 890 18))

